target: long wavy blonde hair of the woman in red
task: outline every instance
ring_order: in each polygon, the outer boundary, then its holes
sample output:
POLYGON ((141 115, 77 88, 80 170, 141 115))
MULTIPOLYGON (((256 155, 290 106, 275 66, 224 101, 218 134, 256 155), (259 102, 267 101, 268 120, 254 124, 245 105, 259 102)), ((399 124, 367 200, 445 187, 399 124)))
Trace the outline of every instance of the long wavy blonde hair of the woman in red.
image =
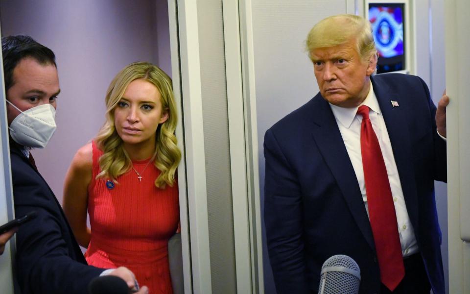
POLYGON ((181 151, 176 146, 174 135, 177 114, 173 98, 171 78, 157 66, 148 62, 134 62, 123 68, 113 79, 106 93, 106 122, 94 139, 97 147, 103 151, 98 160, 101 172, 96 178, 109 178, 117 182, 119 175, 132 168, 132 162, 124 149, 114 124, 114 110, 124 95, 127 86, 136 79, 144 79, 157 87, 161 94, 162 109, 168 111, 168 119, 160 124, 155 133, 154 164, 161 171, 155 180, 155 186, 164 188, 175 183, 176 168, 181 159, 181 151))

